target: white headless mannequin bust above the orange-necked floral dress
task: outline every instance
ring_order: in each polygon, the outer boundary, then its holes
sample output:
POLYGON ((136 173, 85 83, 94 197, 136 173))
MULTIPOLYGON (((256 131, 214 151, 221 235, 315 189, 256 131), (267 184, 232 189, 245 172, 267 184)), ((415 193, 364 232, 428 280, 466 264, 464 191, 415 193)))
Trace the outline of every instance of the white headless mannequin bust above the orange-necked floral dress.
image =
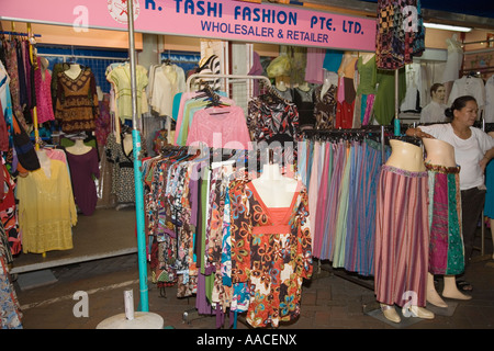
POLYGON ((296 191, 297 181, 281 174, 279 165, 265 165, 262 174, 251 181, 268 207, 289 207, 296 191))

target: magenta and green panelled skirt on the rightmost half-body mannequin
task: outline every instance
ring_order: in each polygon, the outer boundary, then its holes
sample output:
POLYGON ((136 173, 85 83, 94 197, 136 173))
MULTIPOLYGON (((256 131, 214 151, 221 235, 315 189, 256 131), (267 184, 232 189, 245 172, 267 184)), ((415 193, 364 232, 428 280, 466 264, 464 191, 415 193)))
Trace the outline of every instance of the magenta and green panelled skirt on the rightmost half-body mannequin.
POLYGON ((429 181, 429 272, 456 275, 464 270, 460 167, 426 163, 429 181))

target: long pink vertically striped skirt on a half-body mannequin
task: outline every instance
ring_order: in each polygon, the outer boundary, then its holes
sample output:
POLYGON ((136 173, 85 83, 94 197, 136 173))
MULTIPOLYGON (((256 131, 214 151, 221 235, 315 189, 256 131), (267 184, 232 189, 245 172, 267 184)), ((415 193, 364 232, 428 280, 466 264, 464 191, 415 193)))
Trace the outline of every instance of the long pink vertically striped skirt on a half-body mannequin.
POLYGON ((427 171, 383 166, 375 210, 374 292, 378 302, 425 307, 429 227, 427 171))

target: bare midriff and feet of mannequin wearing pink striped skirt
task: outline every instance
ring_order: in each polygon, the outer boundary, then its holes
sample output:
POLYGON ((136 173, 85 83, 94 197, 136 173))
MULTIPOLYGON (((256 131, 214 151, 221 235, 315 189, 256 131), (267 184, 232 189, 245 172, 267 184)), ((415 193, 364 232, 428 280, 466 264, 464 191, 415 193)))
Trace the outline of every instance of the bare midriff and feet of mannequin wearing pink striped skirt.
MULTIPOLYGON (((386 161, 386 166, 411 172, 424 172, 426 170, 424 165, 424 155, 420 147, 401 140, 390 140, 390 145, 392 152, 386 161)), ((381 310, 386 319, 394 322, 401 321, 400 315, 393 306, 381 304, 381 310)), ((405 312, 405 308, 403 308, 403 310, 405 312)), ((408 312, 418 318, 434 318, 434 314, 424 307, 411 306, 408 312)))

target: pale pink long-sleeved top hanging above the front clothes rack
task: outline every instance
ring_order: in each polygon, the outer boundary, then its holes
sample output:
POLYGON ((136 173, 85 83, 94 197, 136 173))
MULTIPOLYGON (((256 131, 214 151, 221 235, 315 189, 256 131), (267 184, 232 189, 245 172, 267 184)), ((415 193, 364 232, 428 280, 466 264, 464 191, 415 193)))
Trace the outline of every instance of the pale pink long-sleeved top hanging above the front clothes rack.
POLYGON ((197 146, 200 143, 212 148, 251 149, 244 110, 233 105, 195 112, 187 145, 197 146))

